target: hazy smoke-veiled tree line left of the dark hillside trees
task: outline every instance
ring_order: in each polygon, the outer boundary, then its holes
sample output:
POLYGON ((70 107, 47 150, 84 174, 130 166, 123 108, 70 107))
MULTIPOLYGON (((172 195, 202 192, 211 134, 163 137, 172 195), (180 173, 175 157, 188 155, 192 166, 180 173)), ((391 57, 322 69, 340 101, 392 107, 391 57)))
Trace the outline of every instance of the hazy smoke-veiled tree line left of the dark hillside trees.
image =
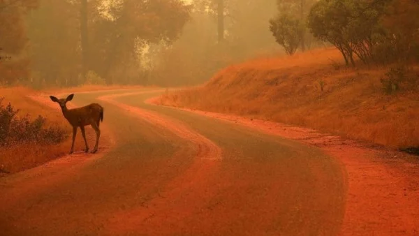
POLYGON ((274 1, 5 2, 0 47, 12 59, 0 85, 198 84, 274 45, 264 27, 274 1))

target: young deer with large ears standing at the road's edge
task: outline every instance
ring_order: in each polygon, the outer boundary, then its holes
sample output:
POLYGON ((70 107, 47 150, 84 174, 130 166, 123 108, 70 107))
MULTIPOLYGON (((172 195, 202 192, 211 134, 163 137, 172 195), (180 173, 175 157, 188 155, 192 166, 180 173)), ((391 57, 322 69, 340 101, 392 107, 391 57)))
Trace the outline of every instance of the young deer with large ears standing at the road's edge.
POLYGON ((103 121, 103 107, 98 103, 91 103, 81 108, 68 109, 66 103, 73 100, 73 97, 74 94, 68 95, 67 98, 60 99, 54 96, 50 96, 53 102, 59 104, 64 118, 66 118, 68 123, 73 126, 73 142, 71 144, 70 154, 73 154, 74 151, 74 140, 78 127, 80 127, 80 130, 82 131, 84 144, 86 145, 84 152, 89 152, 89 145, 87 145, 86 133, 84 132, 84 126, 88 125, 90 125, 91 128, 93 128, 96 132, 96 145, 91 151, 91 153, 94 154, 98 151, 99 138, 101 136, 99 124, 101 121, 103 121))

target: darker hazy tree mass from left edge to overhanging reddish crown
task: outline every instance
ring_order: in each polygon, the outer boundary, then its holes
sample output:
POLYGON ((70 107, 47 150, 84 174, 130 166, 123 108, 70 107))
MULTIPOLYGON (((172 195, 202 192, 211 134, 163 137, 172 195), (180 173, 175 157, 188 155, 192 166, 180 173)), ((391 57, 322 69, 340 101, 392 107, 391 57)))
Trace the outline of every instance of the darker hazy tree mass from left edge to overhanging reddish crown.
POLYGON ((181 0, 0 1, 0 46, 13 58, 0 83, 140 80, 142 45, 178 38, 189 11, 181 0))

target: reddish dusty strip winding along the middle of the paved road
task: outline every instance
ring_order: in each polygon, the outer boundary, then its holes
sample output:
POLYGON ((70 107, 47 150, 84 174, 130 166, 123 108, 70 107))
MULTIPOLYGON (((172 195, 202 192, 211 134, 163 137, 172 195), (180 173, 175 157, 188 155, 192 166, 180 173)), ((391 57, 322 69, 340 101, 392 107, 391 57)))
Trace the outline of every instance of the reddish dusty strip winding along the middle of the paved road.
MULTIPOLYGON (((160 91, 160 90, 158 90, 160 91)), ((222 150, 205 136, 193 131, 181 121, 175 121, 157 112, 151 112, 115 101, 122 96, 152 93, 157 91, 134 92, 101 96, 98 100, 115 105, 126 110, 135 117, 147 121, 153 126, 161 126, 171 131, 179 138, 191 142, 196 154, 191 166, 178 177, 172 179, 159 196, 147 202, 147 206, 139 209, 128 209, 117 212, 110 219, 108 230, 111 233, 127 233, 135 230, 137 233, 159 234, 170 229, 171 232, 184 232, 189 226, 185 219, 202 210, 202 206, 214 195, 214 177, 222 160, 222 150), (197 201, 196 199, 200 199, 197 201), (147 227, 146 227, 147 226, 147 227)), ((184 148, 181 147, 173 156, 182 161, 184 148)), ((167 232, 167 231, 166 231, 167 232)))

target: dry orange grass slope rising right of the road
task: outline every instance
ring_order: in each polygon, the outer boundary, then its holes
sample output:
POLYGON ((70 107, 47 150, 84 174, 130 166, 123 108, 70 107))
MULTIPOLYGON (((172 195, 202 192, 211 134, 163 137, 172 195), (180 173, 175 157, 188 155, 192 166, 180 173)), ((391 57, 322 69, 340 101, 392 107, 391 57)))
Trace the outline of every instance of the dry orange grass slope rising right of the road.
POLYGON ((203 87, 166 93, 159 103, 316 128, 388 147, 419 146, 419 89, 385 95, 380 78, 387 68, 341 65, 334 49, 256 59, 220 71, 203 87))

